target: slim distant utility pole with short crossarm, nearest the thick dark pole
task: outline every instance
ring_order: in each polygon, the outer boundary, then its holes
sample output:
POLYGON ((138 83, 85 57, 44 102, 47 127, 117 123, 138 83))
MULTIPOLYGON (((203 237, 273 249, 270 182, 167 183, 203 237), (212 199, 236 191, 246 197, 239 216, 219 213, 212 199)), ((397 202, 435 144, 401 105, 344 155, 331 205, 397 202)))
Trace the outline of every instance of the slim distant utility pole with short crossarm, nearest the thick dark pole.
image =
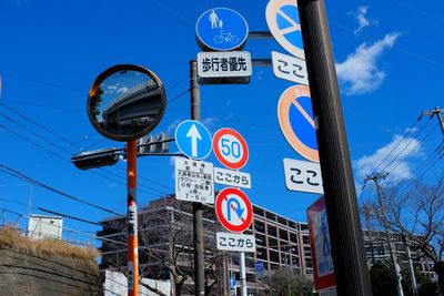
POLYGON ((365 182, 367 181, 373 181, 376 187, 376 195, 377 195, 377 200, 380 201, 380 206, 381 206, 381 216, 382 216, 382 221, 383 221, 383 225, 385 228, 385 236, 386 236, 386 241, 387 241, 387 245, 389 245, 389 251, 390 251, 390 257, 392 261, 392 273, 396 279, 396 289, 397 289, 397 295, 398 296, 404 296, 404 292, 402 288, 402 282, 401 282, 401 274, 396 263, 396 255, 395 255, 395 249, 394 249, 394 245, 392 239, 390 238, 390 232, 389 232, 389 222, 385 215, 385 202, 384 202, 384 195, 381 191, 381 186, 380 186, 380 178, 385 178, 389 175, 389 173, 377 173, 377 174, 373 174, 370 175, 365 178, 365 182))

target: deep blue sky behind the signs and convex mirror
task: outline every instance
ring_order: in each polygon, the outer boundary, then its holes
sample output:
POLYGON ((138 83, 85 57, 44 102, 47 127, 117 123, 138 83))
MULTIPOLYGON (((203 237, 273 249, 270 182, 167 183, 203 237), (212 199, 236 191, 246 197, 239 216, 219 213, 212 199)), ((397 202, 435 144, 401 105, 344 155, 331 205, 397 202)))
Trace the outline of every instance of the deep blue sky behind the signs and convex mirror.
MULTIPOLYGON (((81 149, 122 147, 119 142, 101 141, 103 137, 88 120, 87 94, 95 75, 113 64, 140 64, 159 75, 168 100, 172 100, 189 86, 189 60, 195 59, 200 51, 194 39, 199 16, 213 7, 229 7, 245 17, 250 30, 265 31, 266 3, 265 0, 1 1, 0 163, 123 214, 124 162, 93 173, 79 171, 70 163, 70 156, 81 149)), ((357 187, 394 146, 398 153, 389 155, 377 169, 391 171, 392 182, 413 180, 415 170, 431 160, 443 139, 436 119, 427 125, 428 119, 416 126, 415 123, 423 110, 444 105, 444 18, 437 13, 444 3, 327 0, 326 9, 357 187), (421 132, 417 139, 413 139, 417 132, 421 132), (391 163, 394 155, 400 156, 391 163)), ((248 40, 244 50, 253 58, 271 58, 272 50, 286 53, 271 39, 248 40)), ((284 186, 282 160, 301 160, 286 143, 276 118, 279 98, 291 85, 274 78, 271 68, 254 68, 250 84, 203 85, 201 114, 212 133, 223 126, 232 127, 248 141, 250 160, 242 171, 252 176, 253 187, 246 191, 251 201, 287 217, 306 221, 305 210, 317 196, 289 192, 284 186)), ((169 102, 153 133, 173 135, 176 124, 190 118, 189 100, 185 94, 169 102)), ((176 150, 172 144, 171 151, 176 150)), ((221 167, 213 154, 209 161, 221 167)), ((140 206, 173 192, 172 163, 170 157, 139 160, 140 206)), ((431 180, 443 173, 443 160, 435 163, 422 177, 431 180)), ((28 208, 18 203, 28 203, 29 191, 26 182, 0 172, 1 207, 27 214, 28 208)), ((370 194, 367 190, 361 197, 370 194)), ((38 186, 32 186, 32 205, 91 221, 109 215, 38 186)), ((98 229, 69 220, 65 226, 85 232, 98 229)))

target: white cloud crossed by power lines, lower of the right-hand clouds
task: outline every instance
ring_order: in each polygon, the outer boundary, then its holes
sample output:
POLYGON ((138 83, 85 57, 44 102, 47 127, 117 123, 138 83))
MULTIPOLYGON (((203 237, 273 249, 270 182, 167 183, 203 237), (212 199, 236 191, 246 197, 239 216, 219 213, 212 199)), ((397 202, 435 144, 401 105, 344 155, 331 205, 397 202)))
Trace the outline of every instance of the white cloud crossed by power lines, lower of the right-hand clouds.
POLYGON ((395 135, 387 145, 376 150, 372 155, 363 156, 354 162, 356 182, 361 183, 367 175, 389 172, 387 180, 400 182, 412 177, 412 160, 421 156, 421 142, 414 137, 395 135), (393 151, 392 151, 393 150, 393 151))

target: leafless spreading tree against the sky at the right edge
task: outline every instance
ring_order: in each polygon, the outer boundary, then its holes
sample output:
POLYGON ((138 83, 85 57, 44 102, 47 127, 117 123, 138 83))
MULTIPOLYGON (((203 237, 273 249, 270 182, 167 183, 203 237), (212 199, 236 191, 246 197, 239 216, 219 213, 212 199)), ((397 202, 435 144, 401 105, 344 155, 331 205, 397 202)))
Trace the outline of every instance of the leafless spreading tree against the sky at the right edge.
MULTIPOLYGON (((411 249, 434 263, 444 293, 444 176, 435 184, 415 182, 413 188, 385 191, 390 231, 411 249)), ((381 216, 379 216, 381 221, 381 216)), ((382 222, 383 223, 383 222, 382 222)))

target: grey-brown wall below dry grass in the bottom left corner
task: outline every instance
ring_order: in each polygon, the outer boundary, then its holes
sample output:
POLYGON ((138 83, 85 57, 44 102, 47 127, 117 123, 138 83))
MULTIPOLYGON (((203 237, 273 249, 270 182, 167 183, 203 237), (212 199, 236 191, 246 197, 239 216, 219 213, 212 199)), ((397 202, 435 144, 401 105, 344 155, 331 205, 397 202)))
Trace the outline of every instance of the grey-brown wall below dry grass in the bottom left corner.
POLYGON ((103 295, 99 266, 91 261, 27 255, 0 248, 0 295, 103 295))

